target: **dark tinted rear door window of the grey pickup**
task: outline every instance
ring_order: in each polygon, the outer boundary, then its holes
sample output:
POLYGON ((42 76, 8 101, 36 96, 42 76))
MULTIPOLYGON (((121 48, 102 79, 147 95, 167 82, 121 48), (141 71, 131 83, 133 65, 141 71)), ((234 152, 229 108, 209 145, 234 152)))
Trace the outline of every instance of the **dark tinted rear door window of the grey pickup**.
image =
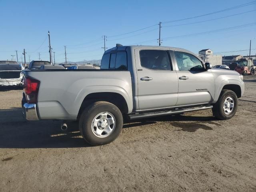
POLYGON ((140 65, 151 70, 171 70, 171 62, 166 50, 141 50, 140 65))

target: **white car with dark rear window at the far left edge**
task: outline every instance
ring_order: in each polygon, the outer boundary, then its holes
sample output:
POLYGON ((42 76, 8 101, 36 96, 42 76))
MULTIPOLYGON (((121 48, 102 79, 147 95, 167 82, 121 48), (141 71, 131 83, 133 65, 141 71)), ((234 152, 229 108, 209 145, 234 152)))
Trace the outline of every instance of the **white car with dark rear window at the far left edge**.
POLYGON ((16 61, 0 61, 0 86, 22 85, 22 64, 16 61))

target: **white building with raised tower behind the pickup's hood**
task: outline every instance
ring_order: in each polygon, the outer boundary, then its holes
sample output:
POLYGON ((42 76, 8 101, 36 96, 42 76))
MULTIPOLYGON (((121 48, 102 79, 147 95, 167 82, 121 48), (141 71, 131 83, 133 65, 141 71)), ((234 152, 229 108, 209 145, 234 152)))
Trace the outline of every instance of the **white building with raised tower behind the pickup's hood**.
POLYGON ((210 49, 203 49, 199 51, 198 57, 204 62, 209 62, 212 66, 222 65, 222 55, 214 55, 210 49))

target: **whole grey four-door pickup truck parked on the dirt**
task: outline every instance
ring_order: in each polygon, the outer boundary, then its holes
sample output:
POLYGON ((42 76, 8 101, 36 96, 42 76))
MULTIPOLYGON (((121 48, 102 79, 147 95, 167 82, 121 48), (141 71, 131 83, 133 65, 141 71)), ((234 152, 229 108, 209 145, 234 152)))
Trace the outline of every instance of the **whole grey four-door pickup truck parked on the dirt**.
MULTIPOLYGON (((148 118, 212 108, 232 118, 244 93, 238 72, 213 69, 192 52, 161 46, 106 50, 100 70, 25 70, 23 114, 27 120, 79 121, 92 145, 112 142, 123 118, 148 118)), ((170 117, 171 118, 171 117, 170 117)))

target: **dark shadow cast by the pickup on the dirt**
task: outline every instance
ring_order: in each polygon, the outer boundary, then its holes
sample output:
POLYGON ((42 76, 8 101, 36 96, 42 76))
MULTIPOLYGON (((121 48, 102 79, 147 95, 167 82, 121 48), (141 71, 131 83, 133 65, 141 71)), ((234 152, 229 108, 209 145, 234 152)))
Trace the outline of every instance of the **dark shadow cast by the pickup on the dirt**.
MULTIPOLYGON (((169 122, 170 125, 179 127, 183 131, 194 132, 199 128, 212 130, 210 126, 198 122, 220 125, 212 122, 214 117, 202 116, 162 116, 146 118, 137 121, 126 121, 123 128, 155 124, 156 122, 169 122), (177 122, 177 121, 183 121, 177 122), (185 122, 184 121, 192 121, 185 122), (194 121, 194 122, 193 122, 194 121)), ((42 120, 26 121, 22 117, 20 108, 0 110, 0 148, 76 148, 92 147, 87 144, 80 132, 78 124, 68 125, 68 131, 60 129, 61 121, 42 120)))

